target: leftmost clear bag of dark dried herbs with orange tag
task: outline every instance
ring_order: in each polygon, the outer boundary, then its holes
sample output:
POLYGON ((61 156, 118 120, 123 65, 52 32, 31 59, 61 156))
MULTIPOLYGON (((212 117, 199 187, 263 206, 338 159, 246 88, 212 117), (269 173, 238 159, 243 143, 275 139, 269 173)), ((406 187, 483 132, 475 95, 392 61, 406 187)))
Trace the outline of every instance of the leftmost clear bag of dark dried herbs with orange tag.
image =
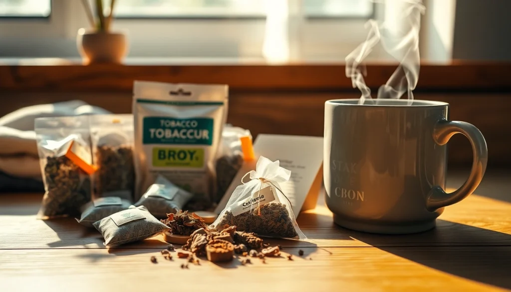
POLYGON ((34 128, 45 190, 37 218, 79 216, 90 201, 95 170, 89 117, 39 118, 34 128))

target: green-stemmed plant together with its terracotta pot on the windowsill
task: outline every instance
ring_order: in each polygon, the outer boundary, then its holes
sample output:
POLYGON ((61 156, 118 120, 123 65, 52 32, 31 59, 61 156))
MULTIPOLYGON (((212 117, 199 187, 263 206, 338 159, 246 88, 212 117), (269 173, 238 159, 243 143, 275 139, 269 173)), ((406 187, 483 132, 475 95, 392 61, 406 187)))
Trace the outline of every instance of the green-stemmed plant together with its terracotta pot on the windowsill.
POLYGON ((77 46, 84 63, 122 63, 128 51, 126 36, 110 30, 115 0, 111 0, 106 14, 103 0, 95 0, 95 9, 88 0, 82 0, 82 4, 91 26, 78 30, 77 46))

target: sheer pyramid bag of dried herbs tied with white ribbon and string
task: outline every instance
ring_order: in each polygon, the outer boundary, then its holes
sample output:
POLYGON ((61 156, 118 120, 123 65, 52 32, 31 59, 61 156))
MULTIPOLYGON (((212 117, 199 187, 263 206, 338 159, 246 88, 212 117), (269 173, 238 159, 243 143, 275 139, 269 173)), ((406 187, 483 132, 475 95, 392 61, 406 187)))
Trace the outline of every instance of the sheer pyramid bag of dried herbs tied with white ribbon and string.
POLYGON ((238 186, 225 209, 211 224, 212 229, 225 225, 259 236, 303 239, 289 200, 278 183, 286 182, 291 171, 261 156, 255 171, 248 172, 250 181, 238 186))

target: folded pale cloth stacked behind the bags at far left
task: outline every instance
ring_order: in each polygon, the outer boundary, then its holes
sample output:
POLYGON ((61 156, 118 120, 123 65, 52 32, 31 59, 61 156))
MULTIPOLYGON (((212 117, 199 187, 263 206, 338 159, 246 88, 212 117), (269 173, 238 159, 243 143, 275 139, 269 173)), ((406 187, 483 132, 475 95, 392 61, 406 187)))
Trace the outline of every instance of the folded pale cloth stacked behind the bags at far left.
POLYGON ((43 190, 34 132, 36 118, 102 114, 110 112, 72 100, 28 106, 0 118, 0 191, 43 190))

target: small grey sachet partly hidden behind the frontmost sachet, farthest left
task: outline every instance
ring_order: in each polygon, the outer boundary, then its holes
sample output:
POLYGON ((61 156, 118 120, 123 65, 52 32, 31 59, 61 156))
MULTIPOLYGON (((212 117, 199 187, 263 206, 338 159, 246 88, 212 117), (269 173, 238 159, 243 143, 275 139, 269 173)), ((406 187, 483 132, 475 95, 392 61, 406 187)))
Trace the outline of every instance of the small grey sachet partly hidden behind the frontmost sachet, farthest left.
POLYGON ((97 198, 82 207, 82 215, 80 219, 76 219, 78 223, 86 227, 94 227, 94 222, 108 217, 114 213, 128 209, 131 206, 129 200, 120 197, 103 197, 97 198))

